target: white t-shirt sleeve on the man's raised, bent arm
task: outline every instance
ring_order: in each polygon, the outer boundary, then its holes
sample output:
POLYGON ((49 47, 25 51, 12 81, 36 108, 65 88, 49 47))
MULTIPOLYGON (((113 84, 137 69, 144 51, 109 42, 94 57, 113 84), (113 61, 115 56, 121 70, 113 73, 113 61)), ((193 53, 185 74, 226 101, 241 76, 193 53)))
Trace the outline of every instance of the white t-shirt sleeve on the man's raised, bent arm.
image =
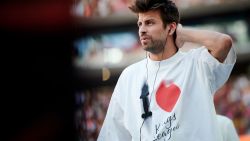
POLYGON ((195 49, 193 55, 198 61, 202 75, 206 77, 212 94, 214 94, 229 78, 236 62, 236 52, 232 47, 223 63, 214 58, 205 47, 195 49))

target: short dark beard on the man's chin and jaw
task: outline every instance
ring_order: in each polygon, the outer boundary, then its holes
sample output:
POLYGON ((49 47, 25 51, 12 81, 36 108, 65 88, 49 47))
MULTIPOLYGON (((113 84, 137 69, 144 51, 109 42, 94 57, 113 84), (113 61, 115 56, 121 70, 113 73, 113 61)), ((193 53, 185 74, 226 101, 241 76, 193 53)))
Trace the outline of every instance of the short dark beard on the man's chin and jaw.
POLYGON ((145 51, 148 51, 153 54, 159 54, 163 52, 165 48, 166 40, 163 39, 152 39, 151 42, 149 42, 146 45, 143 45, 143 49, 145 51))

